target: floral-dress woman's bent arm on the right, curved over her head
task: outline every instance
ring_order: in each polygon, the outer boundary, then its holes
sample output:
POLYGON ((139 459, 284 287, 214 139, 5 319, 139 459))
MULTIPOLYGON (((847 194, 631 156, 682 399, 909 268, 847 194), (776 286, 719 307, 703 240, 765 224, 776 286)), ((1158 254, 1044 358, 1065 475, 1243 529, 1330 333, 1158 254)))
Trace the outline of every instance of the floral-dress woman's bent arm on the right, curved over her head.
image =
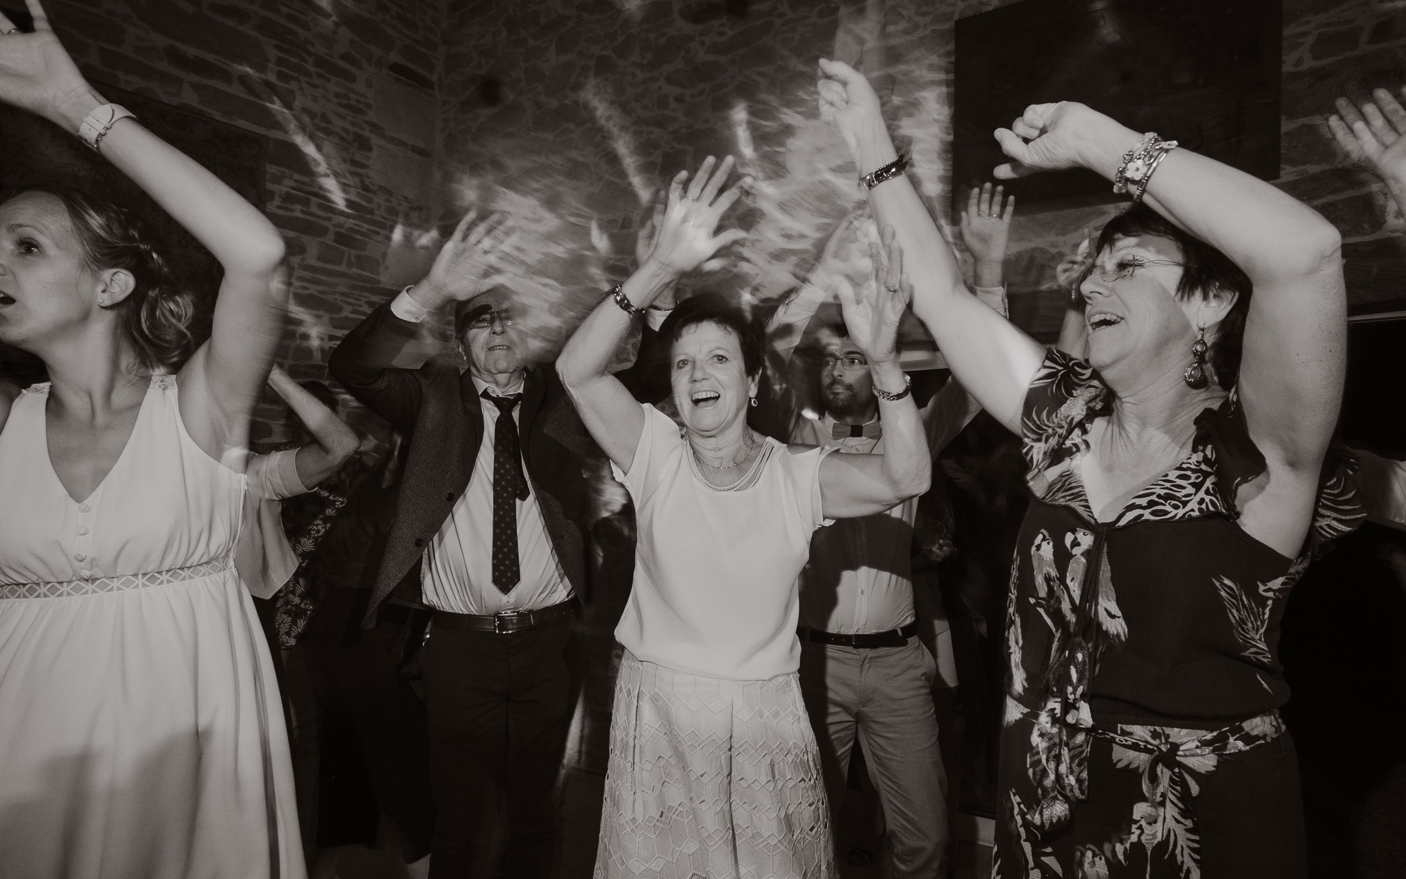
MULTIPOLYGON (((997 131, 1012 159, 997 177, 1085 167, 1112 180, 1142 136, 1083 104, 1032 105, 997 131)), ((1281 484, 1316 487, 1347 367, 1337 229, 1268 183, 1185 149, 1166 153, 1144 201, 1250 277, 1237 381, 1250 436, 1281 484)))

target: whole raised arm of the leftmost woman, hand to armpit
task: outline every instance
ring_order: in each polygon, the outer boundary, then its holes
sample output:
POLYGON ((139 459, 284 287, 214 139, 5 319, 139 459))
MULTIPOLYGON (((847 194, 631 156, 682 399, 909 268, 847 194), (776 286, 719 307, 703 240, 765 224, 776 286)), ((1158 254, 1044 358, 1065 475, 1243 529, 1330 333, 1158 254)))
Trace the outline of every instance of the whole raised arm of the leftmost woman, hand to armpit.
MULTIPOLYGON (((77 135, 84 118, 107 101, 79 73, 39 1, 25 6, 34 32, 0 39, 0 100, 77 135)), ((0 31, 13 30, 0 15, 0 31)), ((273 283, 283 239, 252 204, 134 118, 117 121, 98 152, 224 269, 209 340, 180 371, 186 429, 201 449, 224 458, 226 450, 247 443, 249 416, 273 363, 287 304, 287 287, 273 283)))

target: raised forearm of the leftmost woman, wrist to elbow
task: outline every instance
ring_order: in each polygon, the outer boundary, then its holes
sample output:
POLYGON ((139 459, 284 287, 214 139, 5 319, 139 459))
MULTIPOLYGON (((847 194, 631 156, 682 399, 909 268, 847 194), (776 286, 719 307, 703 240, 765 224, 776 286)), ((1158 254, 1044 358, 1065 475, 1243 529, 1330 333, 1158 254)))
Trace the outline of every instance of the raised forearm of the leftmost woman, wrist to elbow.
MULTIPOLYGON (((87 114, 103 103, 89 89, 56 108, 51 120, 76 135, 87 114)), ((273 276, 284 255, 278 231, 198 162, 131 118, 112 125, 100 152, 195 236, 219 262, 226 278, 273 276)))

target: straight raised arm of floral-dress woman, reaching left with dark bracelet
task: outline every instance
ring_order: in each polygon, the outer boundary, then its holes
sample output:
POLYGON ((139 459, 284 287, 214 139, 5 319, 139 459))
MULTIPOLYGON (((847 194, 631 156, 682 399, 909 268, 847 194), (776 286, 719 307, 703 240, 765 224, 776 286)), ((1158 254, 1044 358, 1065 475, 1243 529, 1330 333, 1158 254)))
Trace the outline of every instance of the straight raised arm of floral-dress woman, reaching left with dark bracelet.
MULTIPOLYGON (((820 114, 849 145, 860 174, 897 158, 879 96, 845 63, 820 62, 820 114)), ((882 226, 897 231, 912 278, 912 312, 928 328, 957 381, 1011 430, 1021 428, 1025 390, 1045 360, 1045 347, 991 312, 962 283, 952 248, 903 174, 869 190, 882 226)))

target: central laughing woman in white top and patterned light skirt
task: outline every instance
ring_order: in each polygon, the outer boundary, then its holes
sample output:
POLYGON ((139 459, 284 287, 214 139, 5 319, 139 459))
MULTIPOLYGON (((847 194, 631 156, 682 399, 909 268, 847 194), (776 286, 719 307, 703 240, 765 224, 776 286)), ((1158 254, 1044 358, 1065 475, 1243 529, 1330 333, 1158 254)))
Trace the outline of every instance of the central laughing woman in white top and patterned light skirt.
MULTIPOLYGON (((669 190, 654 252, 614 288, 557 361, 591 435, 634 501, 634 588, 610 723, 596 876, 835 876, 820 755, 797 668, 796 577, 811 532, 922 494, 931 464, 898 367, 905 295, 889 280, 839 287, 849 335, 880 394, 882 456, 825 456, 747 423, 761 331, 725 301, 686 300, 659 328, 683 422, 637 404, 609 368, 630 323, 740 231, 713 236, 741 194, 718 194, 733 160, 709 158, 669 190), (882 288, 880 288, 882 287, 882 288)), ((876 250, 876 263, 879 253, 876 250)), ((877 276, 877 269, 876 269, 877 276)))

